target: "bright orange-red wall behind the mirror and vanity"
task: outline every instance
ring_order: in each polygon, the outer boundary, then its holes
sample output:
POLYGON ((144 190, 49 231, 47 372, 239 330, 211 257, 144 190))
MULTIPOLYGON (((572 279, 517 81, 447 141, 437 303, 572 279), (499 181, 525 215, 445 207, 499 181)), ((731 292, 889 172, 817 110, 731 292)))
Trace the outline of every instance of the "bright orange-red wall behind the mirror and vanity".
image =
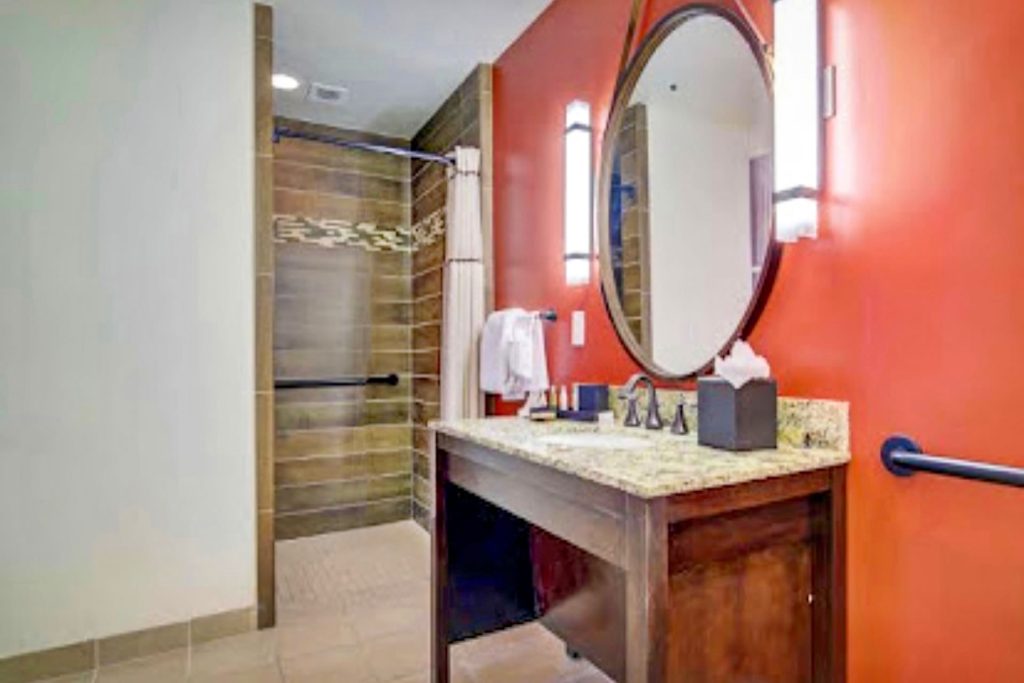
MULTIPOLYGON (((824 2, 821 237, 785 247, 752 340, 784 394, 851 403, 850 680, 1024 681, 1024 495, 898 480, 877 457, 903 431, 1024 465, 1024 2, 824 2)), ((561 265, 564 106, 590 100, 600 127, 630 4, 555 0, 496 68, 497 300, 557 308, 555 382, 636 370, 597 278, 566 288, 561 265)))

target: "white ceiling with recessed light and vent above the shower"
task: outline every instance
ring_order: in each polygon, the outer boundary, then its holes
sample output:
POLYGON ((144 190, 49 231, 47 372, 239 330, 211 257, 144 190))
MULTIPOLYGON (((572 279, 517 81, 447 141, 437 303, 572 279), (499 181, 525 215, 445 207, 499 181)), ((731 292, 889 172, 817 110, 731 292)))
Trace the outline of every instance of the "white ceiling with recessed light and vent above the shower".
POLYGON ((479 62, 495 61, 551 0, 274 0, 274 72, 299 78, 274 112, 412 137, 479 62), (347 89, 306 99, 310 83, 347 89))

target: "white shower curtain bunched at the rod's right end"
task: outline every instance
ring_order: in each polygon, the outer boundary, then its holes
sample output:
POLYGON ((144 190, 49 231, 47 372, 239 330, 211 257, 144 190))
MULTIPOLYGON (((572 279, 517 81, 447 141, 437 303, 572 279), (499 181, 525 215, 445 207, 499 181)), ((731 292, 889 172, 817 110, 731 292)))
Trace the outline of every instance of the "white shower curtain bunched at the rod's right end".
POLYGON ((441 313, 442 420, 483 415, 480 332, 483 329, 483 236, 480 151, 456 147, 447 173, 444 299, 441 313))

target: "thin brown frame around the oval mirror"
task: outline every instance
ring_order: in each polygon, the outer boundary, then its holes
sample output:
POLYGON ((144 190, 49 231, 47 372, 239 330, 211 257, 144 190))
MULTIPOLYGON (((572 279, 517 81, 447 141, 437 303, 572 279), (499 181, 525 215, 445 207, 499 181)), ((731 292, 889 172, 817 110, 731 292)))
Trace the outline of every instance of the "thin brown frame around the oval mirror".
MULTIPOLYGON (((676 9, 663 17, 657 24, 654 25, 651 31, 640 43, 636 54, 630 60, 625 73, 618 78, 618 84, 615 88, 614 97, 612 98, 611 112, 608 115, 607 125, 605 126, 604 136, 601 142, 601 167, 598 178, 596 210, 599 240, 599 261, 601 270, 601 291, 604 297, 604 305, 608 311, 608 315, 611 317, 618 338, 622 340, 623 345, 626 346, 627 351, 629 351, 629 354, 633 357, 633 359, 650 375, 666 380, 682 380, 700 375, 713 366, 715 357, 712 356, 703 366, 692 372, 684 374, 674 373, 673 371, 663 368, 655 362, 653 354, 648 353, 641 346, 640 342, 638 342, 630 329, 618 296, 617 287, 615 285, 614 267, 611 263, 611 238, 608 223, 611 197, 611 173, 614 163, 613 154, 618 130, 623 123, 623 117, 626 114, 626 109, 630 103, 630 98, 633 95, 636 84, 640 80, 647 62, 650 61, 650 58, 653 56, 654 52, 665 39, 672 35, 674 31, 682 27, 687 22, 709 15, 725 19, 731 24, 743 38, 751 48, 751 53, 758 62, 758 68, 761 70, 768 99, 769 101, 774 101, 771 65, 765 54, 765 50, 760 42, 760 39, 754 30, 748 26, 746 22, 737 14, 714 5, 688 5, 676 9)), ((774 123, 772 125, 774 126, 774 123)), ((722 344, 721 349, 718 351, 719 354, 727 350, 735 340, 745 338, 750 331, 754 328, 754 325, 757 323, 757 319, 767 302, 768 294, 770 293, 772 285, 775 281, 775 273, 778 269, 778 262, 780 258, 781 248, 775 240, 775 218, 773 210, 768 224, 768 240, 761 274, 758 278, 757 285, 751 294, 751 300, 748 304, 746 310, 736 326, 733 334, 722 344)))

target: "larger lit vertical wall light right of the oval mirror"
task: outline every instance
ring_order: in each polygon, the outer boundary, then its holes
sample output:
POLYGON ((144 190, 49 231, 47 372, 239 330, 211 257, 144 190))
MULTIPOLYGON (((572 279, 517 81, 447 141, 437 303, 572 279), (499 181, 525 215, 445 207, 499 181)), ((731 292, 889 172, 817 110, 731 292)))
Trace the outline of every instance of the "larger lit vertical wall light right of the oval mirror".
POLYGON ((819 0, 775 0, 775 237, 818 234, 821 183, 819 0))

